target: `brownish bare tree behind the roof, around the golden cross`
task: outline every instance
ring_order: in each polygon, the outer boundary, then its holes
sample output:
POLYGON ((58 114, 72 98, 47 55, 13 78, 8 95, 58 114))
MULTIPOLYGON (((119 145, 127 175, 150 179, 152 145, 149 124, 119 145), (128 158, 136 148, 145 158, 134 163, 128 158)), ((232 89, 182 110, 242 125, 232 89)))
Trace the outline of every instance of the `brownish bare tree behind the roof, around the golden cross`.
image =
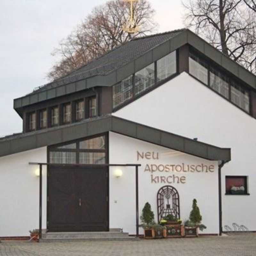
MULTIPOLYGON (((147 35, 156 30, 154 14, 155 10, 148 0, 134 3, 134 19, 140 29, 133 37, 147 35)), ((95 7, 92 13, 54 49, 52 55, 59 57, 60 61, 52 67, 47 77, 56 80, 66 76, 88 61, 130 40, 131 34, 123 31, 129 18, 130 6, 123 0, 111 0, 95 7)))

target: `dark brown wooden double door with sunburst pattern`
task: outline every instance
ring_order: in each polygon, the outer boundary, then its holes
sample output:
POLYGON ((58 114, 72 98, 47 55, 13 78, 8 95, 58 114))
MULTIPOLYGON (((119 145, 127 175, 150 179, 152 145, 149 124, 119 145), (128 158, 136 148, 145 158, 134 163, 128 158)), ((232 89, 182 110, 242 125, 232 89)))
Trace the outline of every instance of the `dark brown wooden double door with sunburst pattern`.
POLYGON ((108 231, 108 168, 49 167, 49 232, 108 231))

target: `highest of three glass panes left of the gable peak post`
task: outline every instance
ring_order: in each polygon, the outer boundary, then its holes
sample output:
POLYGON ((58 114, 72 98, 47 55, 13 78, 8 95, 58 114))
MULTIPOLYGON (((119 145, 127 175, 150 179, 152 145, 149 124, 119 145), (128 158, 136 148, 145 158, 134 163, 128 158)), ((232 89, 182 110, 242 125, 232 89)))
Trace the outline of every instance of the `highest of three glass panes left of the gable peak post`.
POLYGON ((176 51, 157 60, 157 81, 161 81, 176 73, 176 51))

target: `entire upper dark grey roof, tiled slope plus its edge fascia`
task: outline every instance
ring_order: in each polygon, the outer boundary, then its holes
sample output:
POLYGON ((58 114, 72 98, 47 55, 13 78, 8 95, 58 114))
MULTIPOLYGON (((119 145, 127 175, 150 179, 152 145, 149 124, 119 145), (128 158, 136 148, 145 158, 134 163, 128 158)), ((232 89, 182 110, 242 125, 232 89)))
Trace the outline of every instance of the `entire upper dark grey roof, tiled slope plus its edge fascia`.
POLYGON ((15 99, 14 108, 18 109, 96 86, 112 86, 184 44, 192 45, 251 88, 256 89, 256 76, 251 72, 216 50, 189 29, 180 29, 133 39, 70 75, 46 84, 29 95, 15 99))

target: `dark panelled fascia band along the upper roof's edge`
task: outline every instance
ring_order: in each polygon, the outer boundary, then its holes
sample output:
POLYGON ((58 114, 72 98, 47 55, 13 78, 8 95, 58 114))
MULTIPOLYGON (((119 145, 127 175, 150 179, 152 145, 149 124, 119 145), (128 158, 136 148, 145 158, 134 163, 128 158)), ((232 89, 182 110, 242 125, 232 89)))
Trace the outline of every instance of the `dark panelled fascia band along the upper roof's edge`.
POLYGON ((246 84, 250 85, 253 89, 256 89, 256 76, 237 64, 235 61, 229 59, 222 52, 216 50, 212 45, 204 41, 204 39, 187 29, 107 75, 91 76, 71 84, 61 85, 43 92, 36 92, 35 94, 14 99, 14 109, 58 97, 58 91, 61 91, 64 94, 69 94, 96 86, 113 86, 124 78, 132 75, 134 72, 147 67, 153 61, 179 49, 184 44, 193 46, 209 59, 213 60, 246 84), (63 89, 60 87, 63 87, 63 89))

